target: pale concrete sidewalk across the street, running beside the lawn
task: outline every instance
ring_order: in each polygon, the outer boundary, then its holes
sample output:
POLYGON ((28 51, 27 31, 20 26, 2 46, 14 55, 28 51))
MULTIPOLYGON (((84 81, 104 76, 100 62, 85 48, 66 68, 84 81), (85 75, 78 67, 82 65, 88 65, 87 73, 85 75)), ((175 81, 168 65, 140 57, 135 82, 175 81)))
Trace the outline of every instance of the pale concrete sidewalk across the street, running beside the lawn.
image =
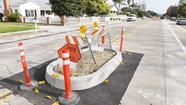
MULTIPOLYGON (((108 25, 113 25, 113 24, 118 24, 120 22, 111 22, 108 25)), ((102 22, 99 24, 99 26, 106 24, 105 22, 102 22)), ((57 35, 57 34, 62 34, 62 33, 68 33, 72 31, 78 31, 80 24, 75 24, 75 25, 66 25, 66 26, 60 26, 60 25, 41 25, 39 26, 40 29, 38 31, 38 34, 35 34, 34 30, 29 30, 29 31, 20 31, 20 32, 11 32, 11 33, 3 33, 0 34, 0 45, 6 44, 6 43, 11 43, 11 42, 17 42, 21 40, 28 40, 28 39, 33 39, 33 38, 39 38, 39 37, 47 37, 47 36, 52 36, 52 35, 57 35), (9 35, 10 34, 10 35, 9 35), (24 35, 25 34, 25 35, 24 35)), ((93 23, 87 24, 87 27, 93 27, 93 23)))

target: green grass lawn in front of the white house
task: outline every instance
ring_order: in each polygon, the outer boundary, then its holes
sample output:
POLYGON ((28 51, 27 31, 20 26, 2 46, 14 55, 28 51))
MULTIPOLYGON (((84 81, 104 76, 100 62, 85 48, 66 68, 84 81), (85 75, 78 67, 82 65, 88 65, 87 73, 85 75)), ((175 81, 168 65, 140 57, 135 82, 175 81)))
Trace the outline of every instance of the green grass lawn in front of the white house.
POLYGON ((31 29, 34 29, 34 24, 31 23, 0 22, 0 33, 24 31, 31 29))

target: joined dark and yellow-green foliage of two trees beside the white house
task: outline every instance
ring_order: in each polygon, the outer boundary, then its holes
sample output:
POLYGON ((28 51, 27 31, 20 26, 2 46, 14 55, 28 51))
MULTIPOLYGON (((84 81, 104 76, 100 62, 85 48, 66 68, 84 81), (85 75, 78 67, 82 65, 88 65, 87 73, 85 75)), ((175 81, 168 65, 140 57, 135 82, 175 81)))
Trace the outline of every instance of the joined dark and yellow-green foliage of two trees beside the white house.
POLYGON ((105 0, 49 0, 58 16, 104 15, 109 12, 105 0))

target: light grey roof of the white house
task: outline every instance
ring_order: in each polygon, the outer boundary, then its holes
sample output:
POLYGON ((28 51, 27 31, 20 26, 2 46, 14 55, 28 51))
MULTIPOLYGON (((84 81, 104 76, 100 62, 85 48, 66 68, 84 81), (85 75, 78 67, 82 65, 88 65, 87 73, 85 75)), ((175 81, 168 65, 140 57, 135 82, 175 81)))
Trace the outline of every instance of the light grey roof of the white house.
POLYGON ((10 7, 19 7, 27 2, 39 5, 41 10, 51 10, 51 5, 48 0, 10 0, 10 7))

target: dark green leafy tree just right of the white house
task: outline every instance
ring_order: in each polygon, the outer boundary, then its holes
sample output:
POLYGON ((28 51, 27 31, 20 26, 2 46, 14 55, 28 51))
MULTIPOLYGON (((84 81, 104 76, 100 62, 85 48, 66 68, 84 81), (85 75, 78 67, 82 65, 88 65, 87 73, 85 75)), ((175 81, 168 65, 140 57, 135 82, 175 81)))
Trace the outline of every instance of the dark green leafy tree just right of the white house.
POLYGON ((49 0, 52 11, 58 16, 80 16, 81 0, 49 0))

